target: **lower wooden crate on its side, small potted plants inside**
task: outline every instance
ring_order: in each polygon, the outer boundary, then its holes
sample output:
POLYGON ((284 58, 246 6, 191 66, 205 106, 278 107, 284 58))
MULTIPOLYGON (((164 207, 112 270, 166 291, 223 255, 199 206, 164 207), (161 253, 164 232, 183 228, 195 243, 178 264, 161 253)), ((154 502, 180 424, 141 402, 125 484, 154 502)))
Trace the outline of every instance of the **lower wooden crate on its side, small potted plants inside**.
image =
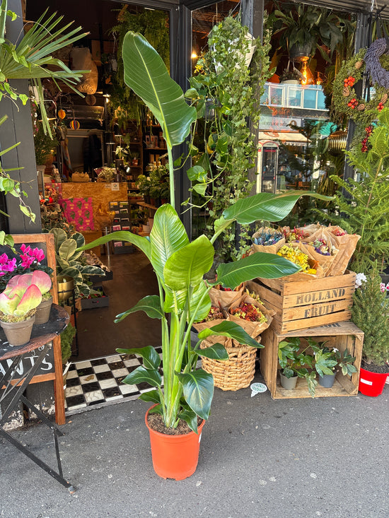
MULTIPOLYGON (((364 333, 352 322, 336 322, 335 324, 301 331, 290 331, 284 334, 277 333, 275 329, 272 329, 272 326, 263 331, 261 343, 265 348, 260 350, 260 370, 273 399, 310 397, 305 379, 298 378, 294 390, 284 389, 279 382, 279 370, 281 368, 278 363, 279 342, 291 336, 299 336, 301 339, 310 336, 315 341, 327 341, 327 347, 336 347, 342 352, 347 348, 349 353, 355 356, 354 365, 357 372, 354 372, 351 377, 338 372, 334 386, 331 389, 326 389, 318 385, 315 397, 354 396, 358 394, 364 333)), ((301 340, 301 343, 303 344, 303 340, 301 340)))

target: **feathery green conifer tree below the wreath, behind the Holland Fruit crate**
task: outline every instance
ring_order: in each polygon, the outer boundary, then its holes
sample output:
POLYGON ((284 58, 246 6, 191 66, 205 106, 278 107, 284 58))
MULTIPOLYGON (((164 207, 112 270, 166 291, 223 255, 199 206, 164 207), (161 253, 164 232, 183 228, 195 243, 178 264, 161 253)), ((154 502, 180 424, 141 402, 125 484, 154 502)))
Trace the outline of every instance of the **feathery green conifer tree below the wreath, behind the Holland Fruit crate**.
POLYGON ((382 271, 389 254, 389 108, 378 116, 368 138, 368 151, 354 148, 346 155, 356 176, 347 180, 331 176, 349 196, 338 190, 337 214, 328 219, 361 236, 352 258, 354 271, 366 271, 375 260, 382 271))

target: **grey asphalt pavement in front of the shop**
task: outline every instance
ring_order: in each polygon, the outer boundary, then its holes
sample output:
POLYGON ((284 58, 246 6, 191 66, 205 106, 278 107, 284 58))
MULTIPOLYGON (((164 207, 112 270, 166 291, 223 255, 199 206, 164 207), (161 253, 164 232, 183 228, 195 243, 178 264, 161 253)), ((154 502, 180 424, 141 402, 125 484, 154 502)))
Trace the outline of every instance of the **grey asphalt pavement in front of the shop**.
MULTIPOLYGON (((388 399, 388 384, 376 398, 277 401, 215 389, 184 481, 154 473, 144 401, 86 411, 59 437, 73 494, 0 439, 0 516, 389 518, 388 399)), ((49 428, 12 434, 55 466, 49 428)))

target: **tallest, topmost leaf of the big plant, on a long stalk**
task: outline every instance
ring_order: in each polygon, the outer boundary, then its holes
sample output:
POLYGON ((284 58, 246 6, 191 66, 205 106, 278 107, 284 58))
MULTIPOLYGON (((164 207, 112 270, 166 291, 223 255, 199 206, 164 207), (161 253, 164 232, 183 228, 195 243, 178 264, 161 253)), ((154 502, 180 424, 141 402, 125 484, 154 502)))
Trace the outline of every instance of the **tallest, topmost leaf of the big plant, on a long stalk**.
POLYGON ((149 106, 171 148, 184 141, 197 114, 149 42, 129 31, 123 41, 124 82, 149 106))

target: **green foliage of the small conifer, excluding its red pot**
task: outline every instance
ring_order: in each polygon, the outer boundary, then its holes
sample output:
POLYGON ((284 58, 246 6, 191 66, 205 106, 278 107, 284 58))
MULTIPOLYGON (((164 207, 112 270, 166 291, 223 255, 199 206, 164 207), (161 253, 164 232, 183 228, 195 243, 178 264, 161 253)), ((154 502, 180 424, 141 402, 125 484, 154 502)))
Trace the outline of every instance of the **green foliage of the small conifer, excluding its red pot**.
POLYGON ((381 291, 377 264, 366 278, 353 295, 352 322, 364 331, 362 359, 368 370, 373 370, 371 364, 382 368, 389 360, 389 299, 381 291))

